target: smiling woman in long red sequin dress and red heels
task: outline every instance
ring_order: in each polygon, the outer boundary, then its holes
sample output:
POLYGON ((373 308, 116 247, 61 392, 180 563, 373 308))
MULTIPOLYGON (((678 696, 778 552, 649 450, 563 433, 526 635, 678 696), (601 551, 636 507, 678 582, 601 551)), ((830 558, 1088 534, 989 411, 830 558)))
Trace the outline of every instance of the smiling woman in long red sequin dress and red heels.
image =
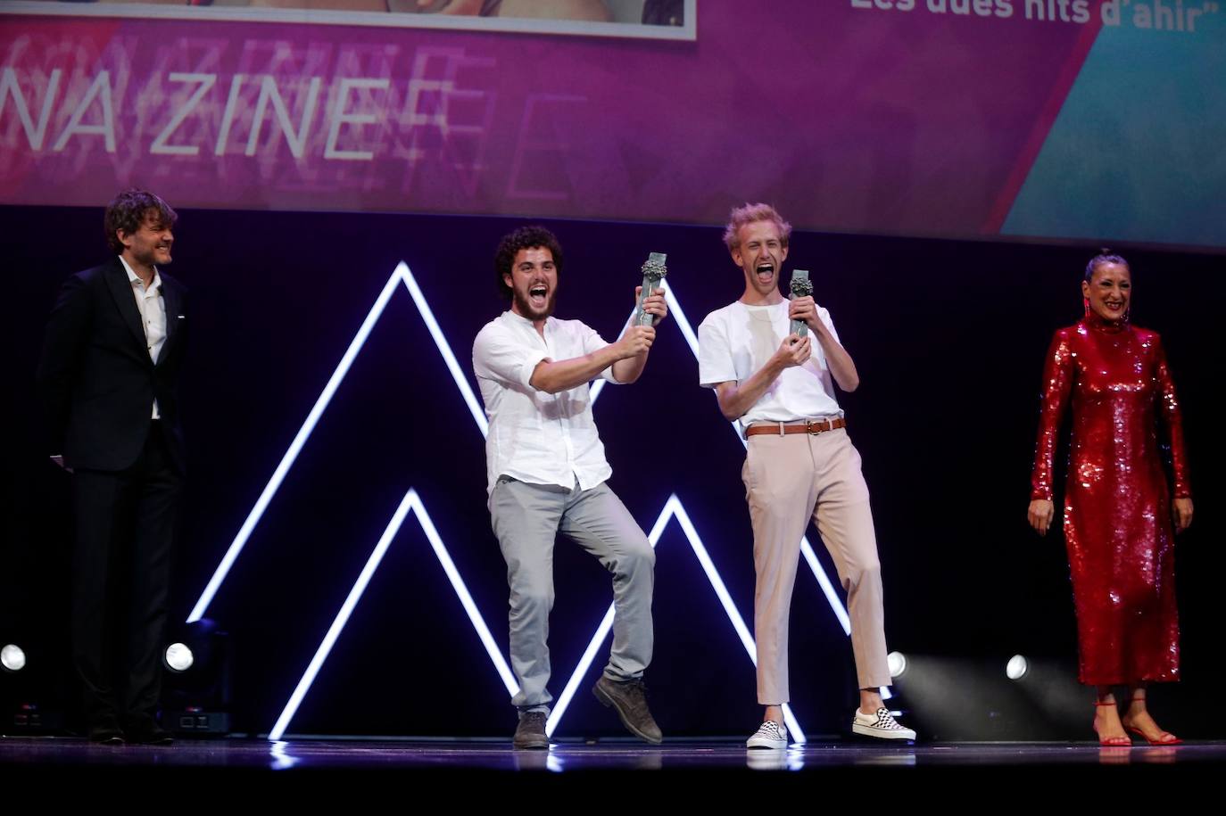
POLYGON ((1052 459, 1072 397, 1064 538, 1079 676, 1098 693, 1094 728, 1103 745, 1130 745, 1125 730, 1173 745, 1179 740, 1146 709, 1145 686, 1179 676, 1175 533, 1192 523, 1179 404, 1157 333, 1128 322, 1128 263, 1096 256, 1081 294, 1085 319, 1057 331, 1047 353, 1029 519, 1046 534, 1056 515, 1052 459), (1160 429, 1171 445, 1173 491, 1160 429), (1112 692, 1121 685, 1128 689, 1123 716, 1112 692))

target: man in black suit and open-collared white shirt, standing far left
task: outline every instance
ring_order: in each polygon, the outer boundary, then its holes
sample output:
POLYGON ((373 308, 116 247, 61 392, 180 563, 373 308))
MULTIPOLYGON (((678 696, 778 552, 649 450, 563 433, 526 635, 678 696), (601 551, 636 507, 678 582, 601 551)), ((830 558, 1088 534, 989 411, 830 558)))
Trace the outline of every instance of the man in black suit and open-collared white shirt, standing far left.
POLYGON ((114 256, 65 282, 38 365, 49 452, 72 473, 72 660, 98 742, 170 741, 157 705, 184 477, 186 310, 185 289, 158 267, 170 262, 175 219, 143 190, 110 202, 114 256))

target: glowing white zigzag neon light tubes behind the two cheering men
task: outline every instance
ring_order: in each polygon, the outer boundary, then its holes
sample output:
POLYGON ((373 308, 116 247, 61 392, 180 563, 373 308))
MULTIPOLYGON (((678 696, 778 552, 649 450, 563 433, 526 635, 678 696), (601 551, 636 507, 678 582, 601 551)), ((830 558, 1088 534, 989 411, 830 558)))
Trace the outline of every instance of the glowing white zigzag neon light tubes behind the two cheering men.
MULTIPOLYGON (((315 425, 318 424, 320 417, 326 410, 327 404, 331 402, 332 396, 336 393, 337 387, 340 387, 340 383, 345 379, 345 375, 348 372, 349 366, 352 365, 353 360, 357 358, 358 353, 364 346, 367 337, 370 334, 370 331, 374 328, 375 323, 378 323, 379 319, 381 317, 383 310, 386 306, 387 301, 391 299, 391 295, 396 289, 396 283, 400 281, 403 281, 406 288, 409 292, 409 295, 413 298, 413 301, 422 315, 422 319, 425 322, 427 328, 429 330, 430 336, 435 342, 435 346, 439 348, 439 352, 443 355, 444 361, 446 363, 447 369, 451 372, 451 376, 455 380, 457 388, 463 396, 465 402, 468 406, 470 413, 472 414, 478 428, 481 429, 482 435, 488 434, 488 424, 485 421, 484 413, 481 410, 476 396, 473 395, 472 388, 468 386, 467 379, 463 376, 460 365, 456 361, 455 354, 451 352, 450 344, 446 342, 446 338, 443 334, 441 328, 439 328, 438 321, 434 319, 433 311, 430 310, 424 295, 422 294, 421 288, 417 285, 417 281, 413 278, 412 272, 409 272, 408 266, 402 261, 401 263, 397 265, 396 270, 387 279, 387 283, 384 285, 383 292, 379 294, 379 298, 371 306, 370 312, 367 315, 367 319, 363 321, 360 328, 358 330, 358 333, 349 343, 349 348, 346 350, 336 370, 332 372, 332 376, 325 385, 324 391, 316 399, 315 406, 308 414, 306 420, 303 423, 303 426, 294 436, 294 440, 291 442, 289 448, 282 457, 281 463, 273 472, 272 478, 268 480, 268 484, 265 486, 255 506, 251 508, 251 512, 248 515, 248 518, 244 522, 243 527, 239 529, 238 535, 234 538, 234 542, 227 550, 226 556, 222 559, 222 562, 218 565, 212 578, 206 586, 205 592, 196 602, 196 605, 192 609, 191 615, 188 618, 188 622, 192 622, 202 618, 208 605, 212 603, 212 599, 216 595, 217 589, 226 580, 229 570, 233 567, 234 561, 237 560, 238 555, 245 546, 246 540, 250 538, 251 532, 255 529, 256 524, 259 524, 260 518, 262 517, 265 510, 267 508, 267 505, 271 502, 272 497, 280 489, 281 483, 284 480, 284 477, 293 467, 294 461, 297 459, 306 440, 310 437, 311 431, 314 431, 315 425)), ((664 289, 667 300, 669 303, 669 309, 673 311, 673 315, 677 320, 677 325, 680 328, 682 333, 684 334, 687 343, 689 343, 690 350, 696 357, 698 339, 694 336, 691 325, 687 320, 685 314, 680 308, 680 304, 678 303, 676 295, 673 294, 672 288, 668 287, 667 282, 664 282, 664 289)), ((593 402, 596 397, 600 395, 602 386, 603 381, 598 381, 592 387, 593 402)), ((676 501, 676 496, 672 496, 669 505, 673 501, 676 501)), ((677 501, 676 506, 680 507, 680 502, 677 501)), ((429 517, 425 513, 425 507, 424 505, 422 505, 421 499, 418 497, 416 491, 409 490, 409 493, 406 494, 405 500, 401 504, 401 508, 397 510, 397 513, 392 517, 392 522, 389 523, 387 529, 385 529, 384 535, 380 538, 380 543, 379 545, 376 545, 375 551, 370 556, 370 560, 368 560, 367 569, 363 570, 362 576, 359 576, 353 589, 351 591, 349 598, 346 600, 346 604, 342 605, 342 609, 338 613, 336 620, 333 621, 332 627, 330 627, 329 633, 324 638, 324 642, 316 651, 315 658, 308 667, 308 670, 304 674, 303 680, 299 682, 299 686, 292 695, 289 703, 287 703, 286 711, 282 713, 282 717, 278 718, 277 727, 275 728, 276 736, 273 736, 272 739, 277 739, 283 734, 284 727, 288 725, 289 718, 292 718, 293 713, 300 705, 302 698, 305 696, 306 690, 310 687, 310 684, 314 680, 315 674, 322 665, 322 662, 326 659, 327 653, 331 651, 331 647, 335 643, 336 637, 340 635, 341 630, 343 630, 345 622, 348 620, 348 616, 352 613, 353 606, 357 604, 357 600, 364 592, 365 586, 370 580, 370 576, 378 569, 379 561, 383 559, 386 548, 390 545, 391 539, 395 537, 396 531, 398 531, 400 524, 403 522, 405 515, 411 508, 418 512, 419 519, 427 519, 427 522, 423 523, 423 529, 427 528, 429 517)), ((657 519, 656 528, 658 528, 660 531, 663 529, 662 524, 667 522, 666 515, 668 513, 668 511, 669 506, 666 505, 664 511, 661 512, 661 517, 657 519), (663 522, 661 519, 663 519, 663 522)), ((688 516, 685 518, 688 521, 688 516)), ((428 528, 433 531, 433 523, 429 523, 428 528)), ((690 526, 689 531, 687 531, 687 535, 690 534, 690 531, 693 531, 693 526, 690 526)), ((429 535, 429 532, 427 534, 429 535)), ((658 533, 656 538, 658 538, 658 533)), ((690 542, 691 545, 695 545, 695 553, 699 554, 699 548, 701 548, 701 543, 696 538, 696 533, 694 533, 694 535, 690 538, 690 542)), ((493 640, 488 636, 488 627, 485 626, 484 620, 481 618, 479 611, 477 611, 476 605, 472 604, 472 599, 467 593, 467 588, 465 588, 463 582, 459 576, 459 572, 455 571, 454 564, 451 564, 450 556, 446 555, 446 549, 443 546, 441 539, 438 539, 436 532, 432 538, 432 545, 434 546, 435 554, 439 556, 440 562, 444 564, 444 569, 447 570, 447 575, 449 578, 451 578, 452 581, 454 588, 461 597, 461 600, 465 603, 465 609, 466 611, 468 611, 473 626, 477 629, 478 635, 482 636, 482 642, 485 646, 487 651, 489 652, 490 659, 494 662, 495 668, 499 669, 499 674, 503 676, 504 682, 508 685, 508 690, 514 695, 517 691, 517 686, 515 685, 514 679, 510 679, 510 681, 508 681, 508 678, 510 678, 510 675, 509 671, 505 669, 506 663, 503 659, 503 655, 499 652, 499 649, 494 646, 493 640)), ((655 545, 655 539, 652 540, 652 545, 655 545)), ((831 603, 831 608, 834 609, 836 616, 842 624, 845 632, 850 631, 850 624, 847 621, 846 610, 842 608, 841 600, 834 593, 832 587, 830 586, 830 582, 826 578, 825 572, 821 570, 820 564, 817 561, 817 557, 813 554, 812 546, 809 546, 807 539, 802 540, 802 550, 804 551, 807 562, 814 571, 814 575, 818 577, 818 581, 821 584, 828 600, 831 603)), ((718 573, 715 572, 714 565, 710 564, 710 559, 705 557, 705 548, 701 549, 699 559, 700 562, 702 562, 704 565, 704 570, 707 570, 709 578, 712 576, 715 577, 715 581, 712 581, 712 586, 716 587, 716 592, 720 593, 723 584, 722 581, 718 580, 718 573), (710 569, 707 569, 709 566, 710 569), (716 581, 718 581, 717 584, 716 581)), ((723 591, 723 594, 726 594, 726 591, 723 591)), ((721 602, 723 598, 721 597, 721 602)), ((726 602, 726 610, 736 613, 734 605, 731 604, 731 598, 726 602)), ((737 615, 737 619, 739 619, 739 615, 737 615)), ((606 615, 606 624, 609 625, 612 624, 612 608, 609 610, 609 614, 606 615)), ((741 626, 743 627, 743 622, 741 624, 741 626)), ((560 720, 562 713, 564 712, 565 706, 569 705, 569 700, 574 693, 574 686, 581 680, 582 675, 586 674, 586 670, 590 667, 591 660, 595 655, 596 648, 598 648, 600 643, 603 642, 603 638, 607 637, 607 633, 608 633, 608 626, 602 624, 602 626, 597 631, 597 636, 593 638, 592 643, 585 652, 584 655, 585 659, 581 660, 580 665, 576 667, 576 671, 571 676, 571 681, 568 682, 566 689, 570 692, 570 695, 566 695, 564 692, 563 698, 559 698, 559 706, 558 706, 559 711, 555 711, 555 714, 550 718, 552 727, 555 727, 557 723, 560 720)), ((748 632, 745 633, 748 635, 748 632)), ((749 651, 750 651, 750 658, 753 659, 753 649, 749 651)), ((796 733, 797 736, 803 740, 803 733, 801 731, 798 724, 796 724, 794 718, 791 717, 791 712, 787 712, 787 716, 791 720, 788 722, 788 727, 792 728, 793 733, 796 733)))

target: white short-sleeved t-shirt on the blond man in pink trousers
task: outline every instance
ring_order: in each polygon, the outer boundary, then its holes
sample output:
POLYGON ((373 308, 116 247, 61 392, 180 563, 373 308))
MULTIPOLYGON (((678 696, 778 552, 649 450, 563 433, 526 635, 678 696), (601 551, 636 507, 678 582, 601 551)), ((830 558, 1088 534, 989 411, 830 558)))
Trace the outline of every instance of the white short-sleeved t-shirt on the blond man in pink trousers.
MULTIPOLYGON (((766 365, 788 334, 787 304, 785 300, 772 306, 748 306, 737 300, 707 315, 698 327, 699 382, 707 388, 729 381, 739 385, 766 365)), ((839 332, 830 312, 819 306, 818 316, 837 341, 839 332)), ((812 332, 809 336, 813 354, 804 365, 783 369, 766 393, 741 418, 742 428, 756 421, 842 415, 835 399, 826 355, 812 332)))

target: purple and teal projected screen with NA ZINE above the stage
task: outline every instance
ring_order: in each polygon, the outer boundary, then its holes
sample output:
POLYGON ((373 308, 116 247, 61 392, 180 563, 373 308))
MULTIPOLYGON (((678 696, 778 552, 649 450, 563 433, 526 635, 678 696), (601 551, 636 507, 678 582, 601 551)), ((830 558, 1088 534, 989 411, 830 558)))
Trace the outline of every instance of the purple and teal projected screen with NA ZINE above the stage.
POLYGON ((9 5, 60 13, 0 16, 4 203, 717 223, 761 198, 809 229, 1226 246, 1198 203, 1226 192, 1214 0, 706 0, 693 42, 9 5))

